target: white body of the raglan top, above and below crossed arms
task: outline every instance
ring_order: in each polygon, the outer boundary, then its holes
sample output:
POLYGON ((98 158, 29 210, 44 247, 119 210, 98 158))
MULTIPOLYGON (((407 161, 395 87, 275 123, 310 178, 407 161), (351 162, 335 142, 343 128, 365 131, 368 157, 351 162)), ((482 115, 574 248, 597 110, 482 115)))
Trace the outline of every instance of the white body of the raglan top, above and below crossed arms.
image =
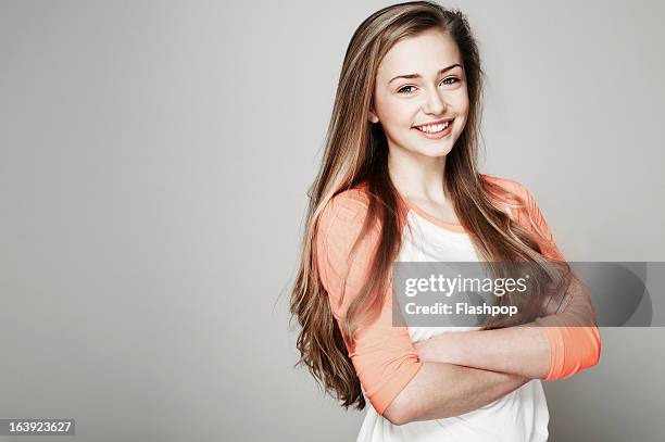
MULTIPOLYGON (((479 261, 467 233, 446 229, 413 210, 406 218, 411 230, 404 229, 398 261, 479 261)), ((409 334, 415 343, 472 329, 477 328, 409 327, 409 334)), ((534 379, 478 409, 442 419, 396 426, 368 406, 357 442, 541 442, 548 440, 549 420, 541 381, 534 379)))

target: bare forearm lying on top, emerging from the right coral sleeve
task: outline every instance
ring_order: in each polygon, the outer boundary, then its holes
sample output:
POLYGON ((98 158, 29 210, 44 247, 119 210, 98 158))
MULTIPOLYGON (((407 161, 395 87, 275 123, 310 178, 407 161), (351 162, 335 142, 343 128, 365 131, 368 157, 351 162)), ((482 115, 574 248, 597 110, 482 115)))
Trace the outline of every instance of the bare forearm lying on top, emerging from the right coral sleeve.
POLYGON ((463 365, 541 379, 551 349, 540 327, 510 327, 438 334, 416 344, 421 361, 463 365))

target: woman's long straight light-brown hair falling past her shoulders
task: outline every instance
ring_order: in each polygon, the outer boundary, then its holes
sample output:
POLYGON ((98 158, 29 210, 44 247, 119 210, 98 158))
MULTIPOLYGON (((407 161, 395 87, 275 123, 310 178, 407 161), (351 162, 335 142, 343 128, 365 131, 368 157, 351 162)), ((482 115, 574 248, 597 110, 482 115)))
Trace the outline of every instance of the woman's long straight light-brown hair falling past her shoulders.
MULTIPOLYGON (((400 3, 375 12, 357 27, 344 55, 323 164, 308 191, 305 231, 290 302, 291 314, 301 326, 297 341, 301 357, 296 366, 306 365, 346 408, 365 406, 346 344, 353 348, 354 330, 378 316, 385 295, 382 289, 401 243, 400 197, 388 174, 388 142, 380 125, 372 125, 367 118, 376 73, 394 43, 432 28, 441 29, 456 42, 469 98, 465 128, 448 153, 444 167, 444 190, 459 219, 481 260, 530 262, 542 287, 552 282, 563 285, 545 265, 550 260, 540 253, 538 242, 505 211, 506 206, 517 207, 524 202, 506 195, 499 186, 482 179, 477 171, 484 73, 478 47, 464 14, 429 1, 400 3), (369 269, 373 277, 350 304, 342 319, 342 336, 315 264, 316 227, 330 199, 360 184, 367 185, 371 198, 359 240, 375 220, 381 226, 381 235, 369 269)), ((537 317, 540 306, 530 305, 530 308, 531 316, 537 317)), ((485 328, 506 325, 499 321, 486 324, 485 328)))

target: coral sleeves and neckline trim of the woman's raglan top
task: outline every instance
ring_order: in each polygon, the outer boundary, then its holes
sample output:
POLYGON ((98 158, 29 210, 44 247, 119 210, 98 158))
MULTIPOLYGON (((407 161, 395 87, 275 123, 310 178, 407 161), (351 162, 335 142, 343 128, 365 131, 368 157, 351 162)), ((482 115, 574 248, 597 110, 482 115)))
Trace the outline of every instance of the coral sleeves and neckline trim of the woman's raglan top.
MULTIPOLYGON (((543 255, 563 261, 564 256, 554 243, 550 228, 530 192, 515 180, 485 174, 481 178, 499 185, 523 202, 514 219, 532 232, 543 255)), ((399 211, 402 214, 401 223, 404 222, 403 214, 410 209, 418 212, 421 216, 434 218, 412 206, 406 199, 400 197, 399 200, 400 206, 406 209, 399 211)), ((380 227, 375 223, 359 243, 354 254, 351 254, 367 207, 367 187, 366 184, 361 184, 335 195, 325 206, 317 223, 316 265, 340 329, 343 329, 341 319, 367 278, 367 269, 378 244, 380 227)), ((441 225, 442 222, 438 220, 438 224, 441 225)), ((450 225, 448 228, 465 231, 461 226, 450 225)), ((392 326, 391 280, 387 290, 379 317, 373 324, 361 327, 354 334, 354 348, 348 346, 349 357, 365 394, 381 416, 423 366, 407 328, 392 326)), ((598 364, 600 358, 600 334, 595 326, 589 326, 594 324, 590 296, 581 287, 572 287, 572 290, 574 295, 563 312, 536 320, 538 325, 544 326, 551 349, 550 370, 544 380, 570 377, 598 364)))

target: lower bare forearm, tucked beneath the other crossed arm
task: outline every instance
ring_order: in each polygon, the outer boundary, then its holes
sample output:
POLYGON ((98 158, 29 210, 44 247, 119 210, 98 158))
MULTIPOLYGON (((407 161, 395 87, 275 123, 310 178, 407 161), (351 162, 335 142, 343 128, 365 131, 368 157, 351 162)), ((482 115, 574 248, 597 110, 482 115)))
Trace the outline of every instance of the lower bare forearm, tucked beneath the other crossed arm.
POLYGON ((503 397, 529 380, 505 372, 425 362, 385 415, 398 424, 460 416, 503 397))

